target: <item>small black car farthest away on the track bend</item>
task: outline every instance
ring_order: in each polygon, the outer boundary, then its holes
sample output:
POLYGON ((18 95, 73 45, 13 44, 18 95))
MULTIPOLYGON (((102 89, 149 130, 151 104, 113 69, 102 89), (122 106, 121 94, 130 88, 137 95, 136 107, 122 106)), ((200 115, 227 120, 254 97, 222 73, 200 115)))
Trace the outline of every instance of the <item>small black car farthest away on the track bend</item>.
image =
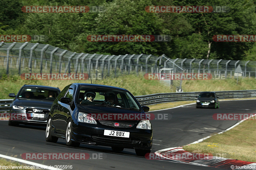
POLYGON ((219 108, 219 97, 215 92, 201 92, 196 100, 196 108, 219 108))

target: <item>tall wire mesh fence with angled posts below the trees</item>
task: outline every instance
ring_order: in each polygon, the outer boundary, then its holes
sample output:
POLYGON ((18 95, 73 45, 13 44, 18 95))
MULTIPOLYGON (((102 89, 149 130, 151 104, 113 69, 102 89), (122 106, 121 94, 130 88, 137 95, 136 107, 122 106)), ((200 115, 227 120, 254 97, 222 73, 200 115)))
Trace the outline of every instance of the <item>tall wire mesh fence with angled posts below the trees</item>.
POLYGON ((244 77, 256 77, 256 61, 170 59, 164 54, 159 57, 79 54, 38 43, 0 43, 0 74, 87 73, 90 77, 96 73, 104 78, 131 73, 159 73, 162 68, 172 68, 172 73, 218 73, 231 77, 239 64, 244 77))

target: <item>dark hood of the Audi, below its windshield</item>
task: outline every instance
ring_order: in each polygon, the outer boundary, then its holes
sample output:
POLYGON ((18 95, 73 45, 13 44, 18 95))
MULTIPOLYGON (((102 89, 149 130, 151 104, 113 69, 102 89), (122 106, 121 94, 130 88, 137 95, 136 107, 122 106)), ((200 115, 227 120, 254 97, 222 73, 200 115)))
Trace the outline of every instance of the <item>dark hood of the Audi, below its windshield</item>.
POLYGON ((12 102, 12 105, 50 109, 52 107, 52 103, 53 101, 18 98, 12 102))

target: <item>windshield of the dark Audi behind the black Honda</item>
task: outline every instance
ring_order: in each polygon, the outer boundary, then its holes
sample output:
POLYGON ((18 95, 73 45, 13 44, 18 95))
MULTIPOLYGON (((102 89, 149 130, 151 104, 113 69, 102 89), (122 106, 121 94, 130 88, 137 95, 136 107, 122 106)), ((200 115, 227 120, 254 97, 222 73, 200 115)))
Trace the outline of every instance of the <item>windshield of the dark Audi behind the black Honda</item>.
POLYGON ((59 91, 57 90, 24 87, 21 89, 20 93, 17 96, 18 98, 26 99, 55 100, 58 94, 59 91))

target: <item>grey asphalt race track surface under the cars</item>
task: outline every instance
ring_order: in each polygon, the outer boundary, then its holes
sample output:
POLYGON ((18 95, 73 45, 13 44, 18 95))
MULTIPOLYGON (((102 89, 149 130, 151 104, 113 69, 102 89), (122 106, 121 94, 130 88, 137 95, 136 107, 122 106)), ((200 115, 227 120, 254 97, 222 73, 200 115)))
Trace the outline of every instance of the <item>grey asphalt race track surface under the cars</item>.
MULTIPOLYGON (((152 152, 192 143, 213 133, 225 130, 239 121, 216 121, 214 113, 255 113, 256 100, 221 101, 219 109, 196 109, 196 105, 154 111, 154 114, 168 114, 170 120, 151 121, 153 126, 152 152)), ((19 125, 8 126, 8 121, 0 121, 0 154, 21 159, 22 153, 88 153, 102 159, 88 160, 30 160, 44 165, 72 165, 72 169, 217 169, 196 166, 172 160, 148 160, 136 156, 132 149, 112 152, 110 147, 81 144, 68 147, 63 139, 57 143, 45 141, 45 127, 19 125)), ((219 169, 219 168, 218 168, 219 169)))

